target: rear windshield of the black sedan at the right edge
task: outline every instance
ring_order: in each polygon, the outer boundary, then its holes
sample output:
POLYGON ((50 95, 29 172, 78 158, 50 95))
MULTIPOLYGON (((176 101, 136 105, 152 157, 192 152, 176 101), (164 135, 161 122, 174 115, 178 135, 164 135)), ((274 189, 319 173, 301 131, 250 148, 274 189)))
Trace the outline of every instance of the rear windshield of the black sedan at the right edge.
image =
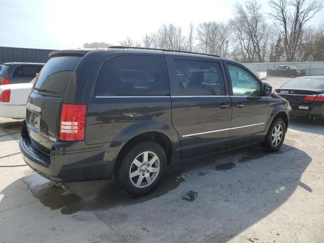
POLYGON ((281 86, 281 89, 324 89, 324 76, 294 78, 281 86))

